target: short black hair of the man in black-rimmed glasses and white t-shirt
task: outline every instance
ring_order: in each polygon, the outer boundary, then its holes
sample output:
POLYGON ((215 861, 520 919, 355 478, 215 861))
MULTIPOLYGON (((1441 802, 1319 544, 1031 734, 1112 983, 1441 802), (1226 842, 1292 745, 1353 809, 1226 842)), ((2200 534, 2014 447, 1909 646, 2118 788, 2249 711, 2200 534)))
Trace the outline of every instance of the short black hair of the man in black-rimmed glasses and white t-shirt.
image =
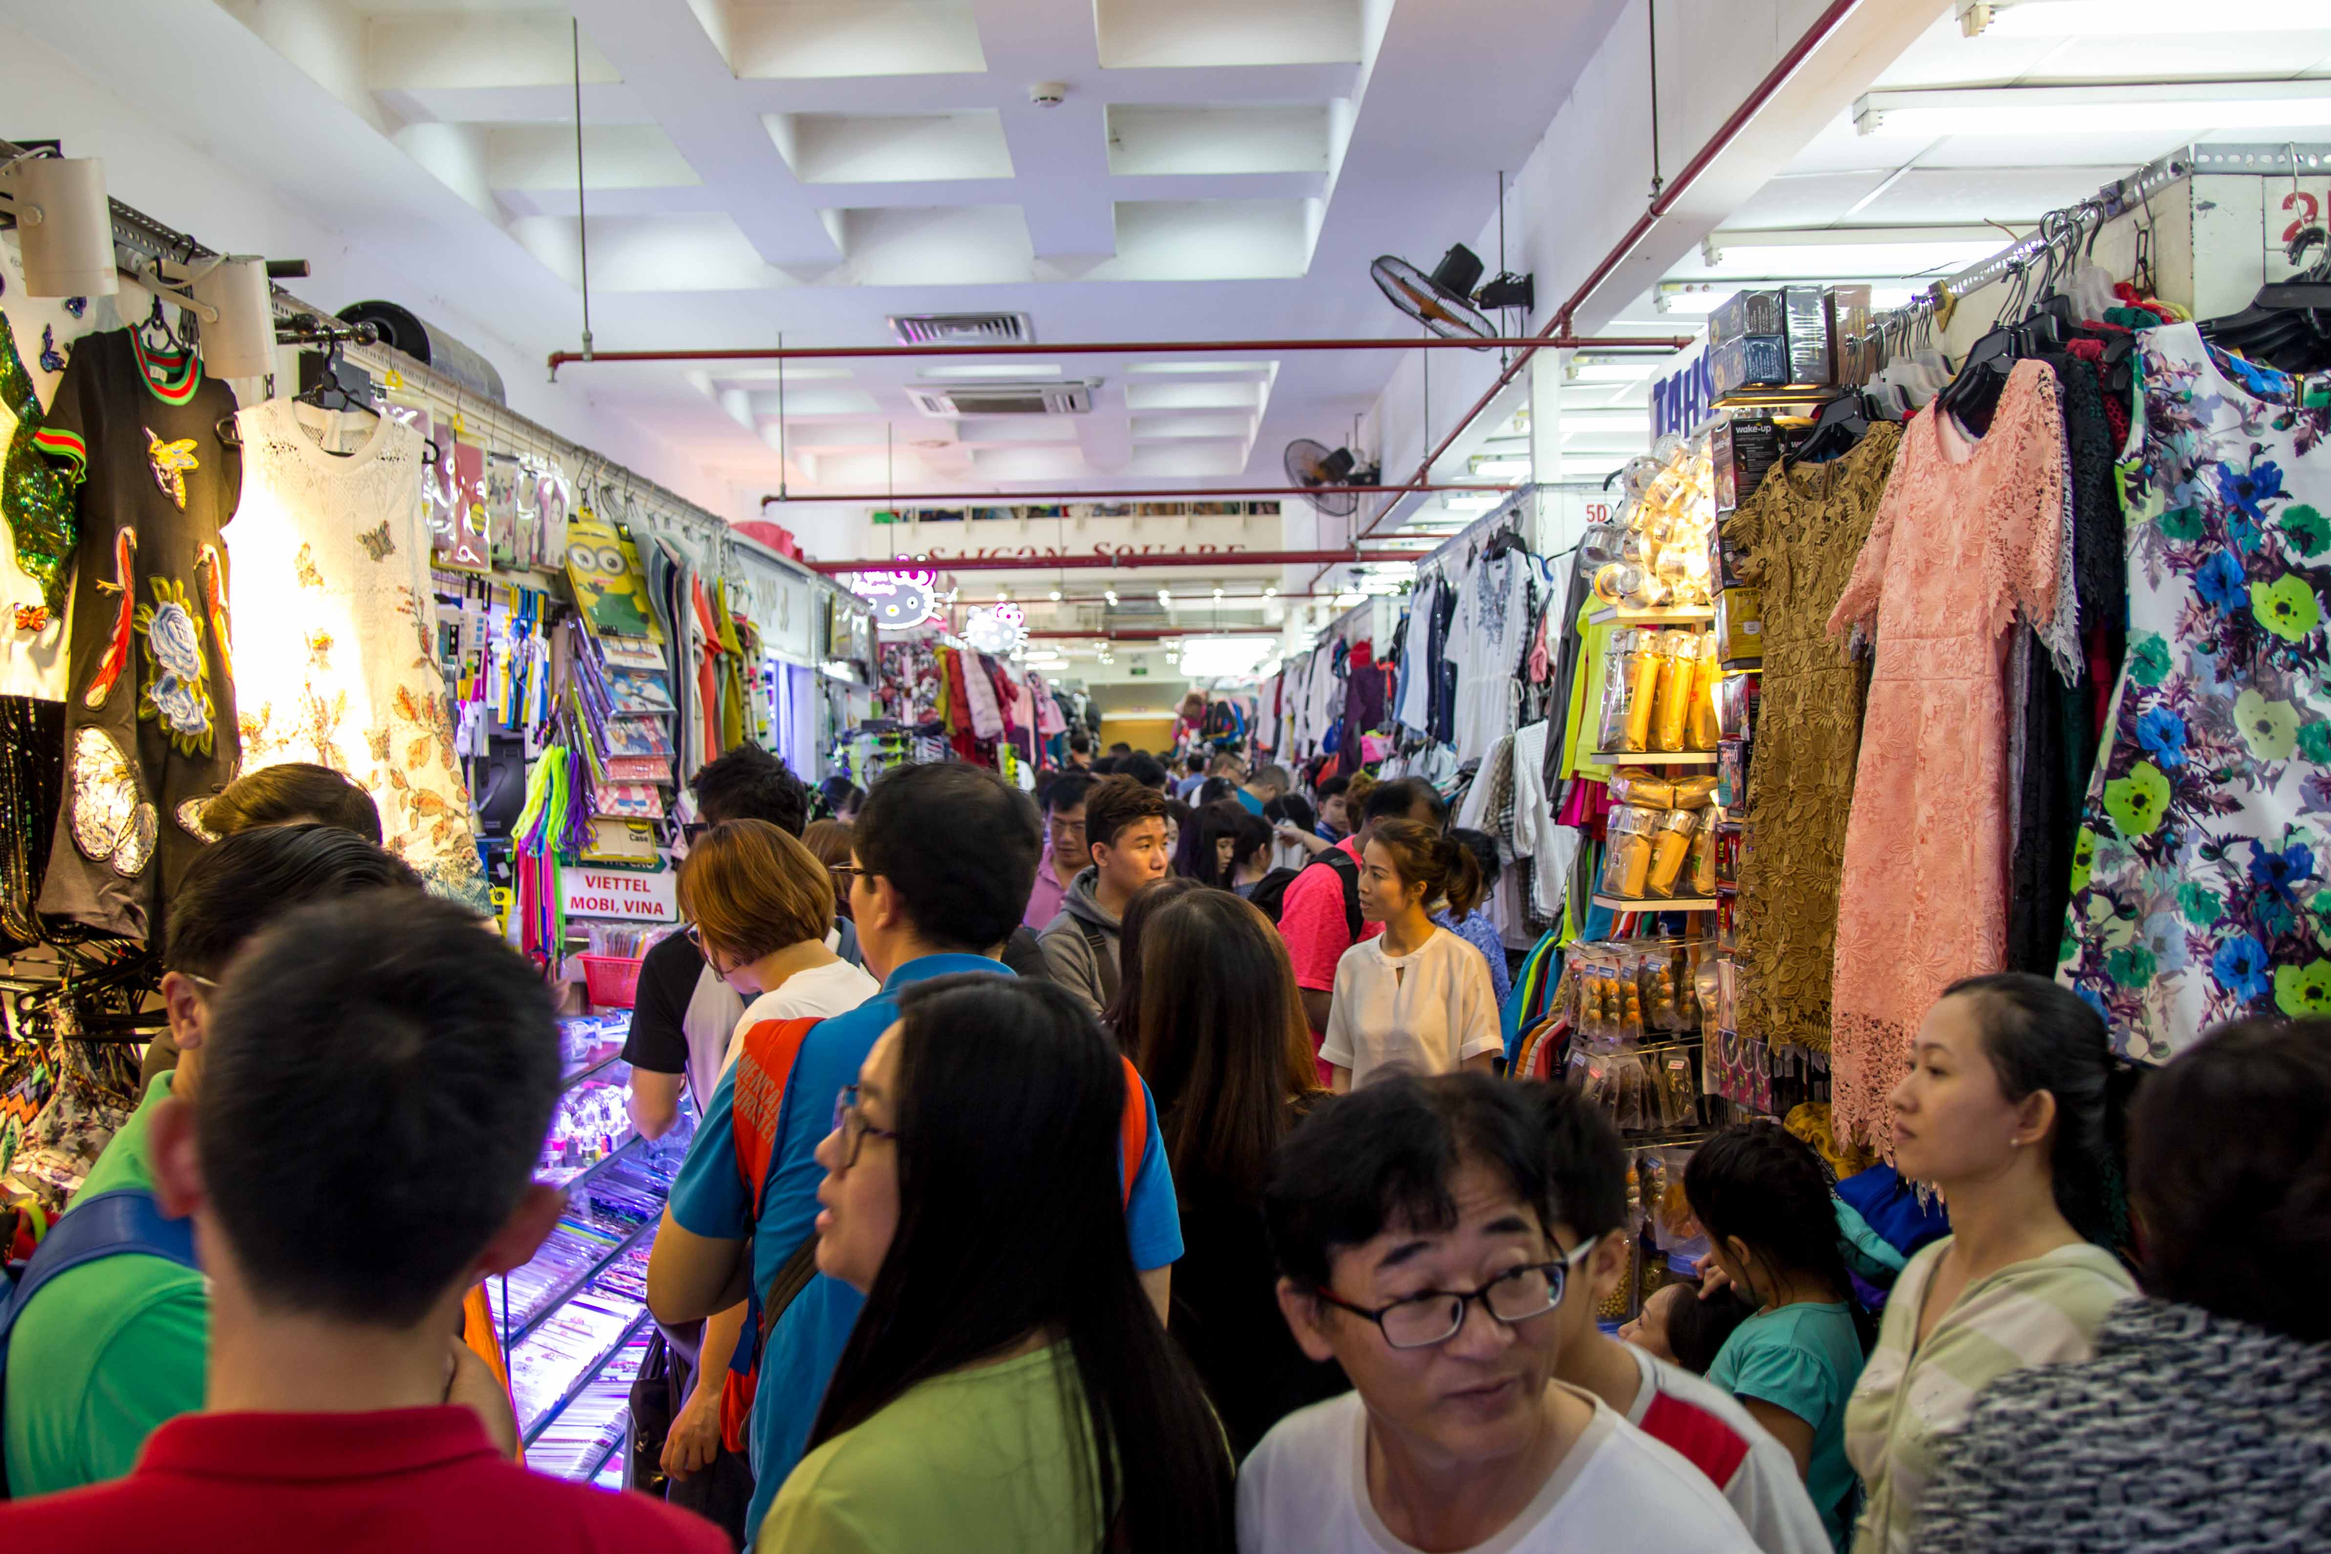
POLYGON ((1541 1221, 1552 1219, 1543 1135, 1534 1088, 1478 1069, 1392 1074, 1322 1102, 1280 1142, 1263 1184, 1280 1272, 1317 1291, 1338 1251, 1387 1225, 1448 1230, 1450 1177, 1464 1163, 1497 1172, 1541 1221))

